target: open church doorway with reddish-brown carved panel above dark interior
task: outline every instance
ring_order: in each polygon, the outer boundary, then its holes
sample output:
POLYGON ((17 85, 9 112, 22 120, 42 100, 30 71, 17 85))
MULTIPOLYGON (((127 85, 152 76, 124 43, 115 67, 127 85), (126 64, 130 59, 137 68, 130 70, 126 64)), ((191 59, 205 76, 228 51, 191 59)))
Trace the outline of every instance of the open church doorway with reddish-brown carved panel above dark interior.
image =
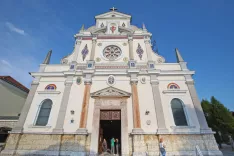
POLYGON ((103 151, 103 140, 107 142, 107 149, 111 151, 111 139, 115 139, 114 153, 121 153, 121 110, 101 110, 99 130, 99 153, 103 151), (118 142, 117 142, 118 140, 118 142))

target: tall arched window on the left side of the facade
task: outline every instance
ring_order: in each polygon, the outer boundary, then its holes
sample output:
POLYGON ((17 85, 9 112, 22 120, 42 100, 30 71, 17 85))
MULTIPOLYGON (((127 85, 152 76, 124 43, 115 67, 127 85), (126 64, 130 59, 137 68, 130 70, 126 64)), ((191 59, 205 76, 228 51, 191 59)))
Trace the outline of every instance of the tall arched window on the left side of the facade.
POLYGON ((50 116, 51 107, 52 107, 52 101, 50 99, 46 99, 43 101, 37 117, 36 126, 47 125, 50 116))

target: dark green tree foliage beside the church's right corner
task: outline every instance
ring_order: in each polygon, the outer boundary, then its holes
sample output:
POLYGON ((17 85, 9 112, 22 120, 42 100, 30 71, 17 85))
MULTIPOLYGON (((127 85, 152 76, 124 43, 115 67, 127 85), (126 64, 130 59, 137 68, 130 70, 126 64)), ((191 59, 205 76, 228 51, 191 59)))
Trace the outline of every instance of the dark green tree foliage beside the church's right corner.
POLYGON ((210 101, 201 102, 207 123, 216 132, 215 138, 218 143, 228 142, 228 135, 234 136, 234 117, 232 113, 215 97, 210 101), (219 136, 222 134, 222 137, 219 136))

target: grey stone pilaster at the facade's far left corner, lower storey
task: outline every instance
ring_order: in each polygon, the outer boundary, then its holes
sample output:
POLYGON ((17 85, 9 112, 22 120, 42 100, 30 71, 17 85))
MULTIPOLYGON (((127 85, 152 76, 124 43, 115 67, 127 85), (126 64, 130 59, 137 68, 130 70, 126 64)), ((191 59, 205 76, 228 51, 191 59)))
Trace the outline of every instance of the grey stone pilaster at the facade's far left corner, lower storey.
POLYGON ((30 89, 29 94, 27 96, 27 99, 25 101, 24 107, 20 113, 19 120, 18 120, 16 126, 13 128, 12 132, 21 133, 23 131, 25 120, 27 118, 29 109, 31 107, 34 95, 37 91, 37 87, 39 85, 39 80, 40 80, 40 78, 35 78, 34 81, 32 82, 31 89, 30 89))

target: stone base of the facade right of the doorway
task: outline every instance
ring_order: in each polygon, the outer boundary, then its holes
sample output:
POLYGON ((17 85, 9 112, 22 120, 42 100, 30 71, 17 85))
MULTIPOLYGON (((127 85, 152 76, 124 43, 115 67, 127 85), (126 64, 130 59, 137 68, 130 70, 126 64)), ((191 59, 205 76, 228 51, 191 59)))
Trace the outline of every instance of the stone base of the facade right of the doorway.
POLYGON ((196 156, 195 147, 199 146, 204 156, 221 156, 212 134, 194 135, 131 135, 129 153, 133 156, 159 155, 159 139, 163 138, 167 155, 196 156))

